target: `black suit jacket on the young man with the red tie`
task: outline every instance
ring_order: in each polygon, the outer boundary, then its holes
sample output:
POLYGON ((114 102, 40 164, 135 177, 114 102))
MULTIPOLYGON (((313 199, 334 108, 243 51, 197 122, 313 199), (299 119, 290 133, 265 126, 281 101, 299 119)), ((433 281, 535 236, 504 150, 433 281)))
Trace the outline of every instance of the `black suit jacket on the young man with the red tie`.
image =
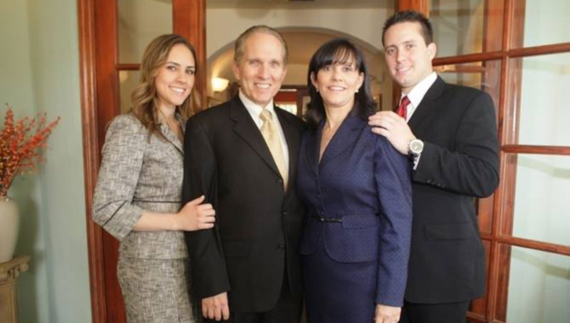
POLYGON ((491 97, 437 77, 408 122, 424 141, 413 172, 413 229, 405 299, 461 302, 484 294, 475 198, 499 183, 491 97))

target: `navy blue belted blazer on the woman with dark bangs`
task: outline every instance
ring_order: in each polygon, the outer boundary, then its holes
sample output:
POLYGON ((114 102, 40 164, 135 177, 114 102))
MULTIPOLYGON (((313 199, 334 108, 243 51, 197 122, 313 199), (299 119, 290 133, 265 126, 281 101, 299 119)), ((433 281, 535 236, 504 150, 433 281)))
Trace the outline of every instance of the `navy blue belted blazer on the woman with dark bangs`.
MULTIPOLYGON (((299 178, 307 208, 301 255, 322 245, 345 270, 346 280, 376 281, 375 299, 364 292, 342 290, 346 282, 326 286, 330 294, 365 297, 359 302, 402 306, 410 252, 412 184, 408 158, 388 140, 375 135, 359 116, 347 116, 328 143, 320 163, 323 122, 301 141, 299 178), (320 218, 335 219, 321 222, 320 218), (374 262, 371 270, 341 263, 374 262), (351 271, 354 269, 353 271, 351 271), (360 275, 375 275, 375 278, 360 275)), ((307 282, 307 288, 311 282, 307 282)), ((360 299, 360 298, 357 298, 360 299)), ((354 303, 355 305, 358 302, 354 303)))

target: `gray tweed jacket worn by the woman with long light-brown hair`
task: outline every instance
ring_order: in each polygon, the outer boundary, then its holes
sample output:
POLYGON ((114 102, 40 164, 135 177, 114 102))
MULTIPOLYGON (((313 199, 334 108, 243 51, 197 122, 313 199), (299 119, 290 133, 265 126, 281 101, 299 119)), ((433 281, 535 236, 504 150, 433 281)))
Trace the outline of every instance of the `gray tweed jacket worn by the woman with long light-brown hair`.
POLYGON ((108 126, 95 193, 93 220, 120 240, 127 257, 187 257, 184 233, 134 231, 142 210, 177 212, 182 193, 182 143, 166 125, 150 135, 132 114, 108 126))

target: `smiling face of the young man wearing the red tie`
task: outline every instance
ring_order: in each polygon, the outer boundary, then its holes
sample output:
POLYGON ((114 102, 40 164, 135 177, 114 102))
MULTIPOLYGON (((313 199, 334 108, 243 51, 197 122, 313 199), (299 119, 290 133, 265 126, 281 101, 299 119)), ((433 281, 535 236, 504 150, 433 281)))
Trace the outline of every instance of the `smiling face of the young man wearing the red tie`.
POLYGON ((390 26, 384 35, 384 56, 390 75, 402 87, 410 90, 432 73, 435 43, 425 43, 418 22, 401 22, 390 26))

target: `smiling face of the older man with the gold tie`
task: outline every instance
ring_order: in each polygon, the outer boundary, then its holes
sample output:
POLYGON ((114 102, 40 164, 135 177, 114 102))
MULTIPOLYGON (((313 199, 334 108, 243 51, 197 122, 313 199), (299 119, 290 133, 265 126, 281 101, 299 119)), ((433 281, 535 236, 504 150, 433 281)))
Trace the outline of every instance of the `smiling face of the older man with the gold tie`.
POLYGON ((275 96, 286 75, 285 49, 270 34, 255 33, 244 43, 244 53, 232 69, 244 96, 266 106, 275 96))

